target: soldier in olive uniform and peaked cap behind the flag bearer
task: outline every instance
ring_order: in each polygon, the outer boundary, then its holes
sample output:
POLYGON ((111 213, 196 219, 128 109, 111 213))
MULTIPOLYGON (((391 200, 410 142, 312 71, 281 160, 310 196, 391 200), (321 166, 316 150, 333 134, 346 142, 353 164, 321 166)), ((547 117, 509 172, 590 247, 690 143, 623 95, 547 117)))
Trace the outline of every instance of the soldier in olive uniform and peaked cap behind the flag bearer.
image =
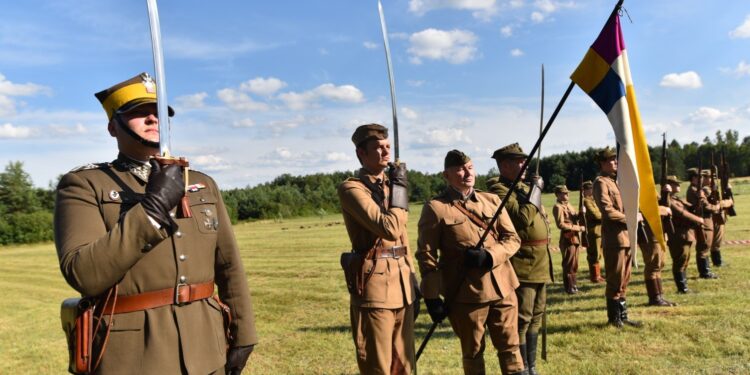
MULTIPOLYGON (((487 180, 488 190, 504 199, 527 157, 518 143, 497 149, 492 158, 500 176, 487 180)), ((546 310, 547 284, 552 282, 552 256, 549 221, 542 205, 544 182, 541 178, 532 180, 531 187, 523 182, 516 185, 505 203, 505 211, 521 238, 521 248, 510 258, 521 283, 516 288, 521 356, 529 375, 536 375, 536 349, 546 310)))

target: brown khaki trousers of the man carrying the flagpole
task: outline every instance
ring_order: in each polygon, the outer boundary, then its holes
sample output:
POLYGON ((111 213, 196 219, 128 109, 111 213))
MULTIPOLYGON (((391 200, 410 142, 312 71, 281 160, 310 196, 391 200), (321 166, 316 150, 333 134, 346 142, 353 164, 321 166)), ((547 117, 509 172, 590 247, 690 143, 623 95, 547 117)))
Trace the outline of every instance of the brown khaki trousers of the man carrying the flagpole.
POLYGON ((523 371, 518 347, 518 301, 515 293, 486 303, 453 303, 448 319, 461 341, 464 374, 484 374, 485 324, 503 374, 523 371))

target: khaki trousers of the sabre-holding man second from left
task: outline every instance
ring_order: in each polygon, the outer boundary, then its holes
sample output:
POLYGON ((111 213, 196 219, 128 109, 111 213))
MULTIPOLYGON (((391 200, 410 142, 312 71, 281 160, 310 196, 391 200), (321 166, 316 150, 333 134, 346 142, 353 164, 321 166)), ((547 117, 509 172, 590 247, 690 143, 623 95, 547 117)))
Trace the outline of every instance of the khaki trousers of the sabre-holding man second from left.
POLYGON ((360 374, 414 371, 414 305, 400 309, 351 306, 349 311, 360 374))

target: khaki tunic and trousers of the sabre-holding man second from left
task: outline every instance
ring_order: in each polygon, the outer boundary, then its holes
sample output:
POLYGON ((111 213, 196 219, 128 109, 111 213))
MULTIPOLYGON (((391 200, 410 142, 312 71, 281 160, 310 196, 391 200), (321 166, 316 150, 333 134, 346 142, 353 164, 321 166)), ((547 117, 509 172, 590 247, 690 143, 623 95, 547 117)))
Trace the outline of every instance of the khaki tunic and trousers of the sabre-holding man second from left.
MULTIPOLYGON (((352 249, 366 253, 379 246, 407 246, 406 256, 365 259, 363 267, 371 276, 361 296, 350 294, 352 338, 357 364, 362 374, 411 373, 415 367, 414 316, 412 303, 417 298, 416 277, 406 233, 408 212, 397 207, 385 211, 372 198, 363 181, 383 189, 389 201, 387 180, 360 169, 338 187, 344 224, 352 249)), ((385 208, 385 207, 384 207, 385 208)))

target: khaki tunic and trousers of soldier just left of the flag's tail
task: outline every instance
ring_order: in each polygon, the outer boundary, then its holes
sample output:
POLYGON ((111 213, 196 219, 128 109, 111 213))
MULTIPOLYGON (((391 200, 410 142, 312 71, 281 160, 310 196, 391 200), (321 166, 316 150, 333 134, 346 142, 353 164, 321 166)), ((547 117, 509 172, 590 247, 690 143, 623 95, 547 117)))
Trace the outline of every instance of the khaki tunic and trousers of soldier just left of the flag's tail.
POLYGON ((602 174, 594 180, 594 201, 602 212, 602 248, 607 277, 605 296, 624 299, 630 282, 633 253, 620 188, 614 176, 602 174))

